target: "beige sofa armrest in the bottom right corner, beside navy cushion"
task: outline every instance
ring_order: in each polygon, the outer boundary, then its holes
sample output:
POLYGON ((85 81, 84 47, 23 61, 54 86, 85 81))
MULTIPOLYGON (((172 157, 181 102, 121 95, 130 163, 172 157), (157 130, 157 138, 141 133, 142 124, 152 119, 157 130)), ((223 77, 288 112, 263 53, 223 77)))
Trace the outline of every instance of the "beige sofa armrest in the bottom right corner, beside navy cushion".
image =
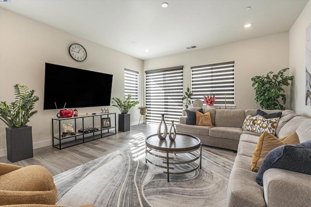
POLYGON ((263 174, 267 207, 310 207, 311 175, 272 168, 263 174))

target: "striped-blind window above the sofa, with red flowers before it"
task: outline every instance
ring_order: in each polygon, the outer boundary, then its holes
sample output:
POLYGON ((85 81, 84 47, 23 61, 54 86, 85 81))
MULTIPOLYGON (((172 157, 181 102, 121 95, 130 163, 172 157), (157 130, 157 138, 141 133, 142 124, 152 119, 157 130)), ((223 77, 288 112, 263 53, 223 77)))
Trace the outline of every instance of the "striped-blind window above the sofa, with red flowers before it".
POLYGON ((215 94, 215 106, 234 106, 234 61, 191 67, 191 90, 194 99, 215 94))

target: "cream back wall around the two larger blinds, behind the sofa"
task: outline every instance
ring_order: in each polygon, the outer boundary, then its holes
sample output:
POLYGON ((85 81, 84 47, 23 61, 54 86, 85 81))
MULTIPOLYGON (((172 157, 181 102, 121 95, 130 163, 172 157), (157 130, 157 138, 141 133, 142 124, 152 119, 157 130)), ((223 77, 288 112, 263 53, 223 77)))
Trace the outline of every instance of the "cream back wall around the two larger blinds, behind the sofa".
POLYGON ((260 109, 259 104, 256 104, 254 100, 255 91, 251 78, 266 75, 269 71, 276 73, 288 67, 288 50, 288 32, 282 32, 146 60, 144 61, 144 70, 183 65, 184 91, 186 91, 187 85, 191 86, 191 66, 235 61, 236 109, 260 109))

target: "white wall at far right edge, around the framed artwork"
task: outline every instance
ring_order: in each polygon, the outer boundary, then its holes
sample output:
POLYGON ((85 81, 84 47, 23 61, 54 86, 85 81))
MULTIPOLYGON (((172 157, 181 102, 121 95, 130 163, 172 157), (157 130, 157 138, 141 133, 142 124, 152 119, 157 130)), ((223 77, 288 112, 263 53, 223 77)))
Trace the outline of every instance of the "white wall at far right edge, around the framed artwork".
POLYGON ((306 106, 306 28, 311 24, 311 1, 305 6, 289 32, 289 64, 294 75, 291 107, 296 113, 311 116, 306 106))

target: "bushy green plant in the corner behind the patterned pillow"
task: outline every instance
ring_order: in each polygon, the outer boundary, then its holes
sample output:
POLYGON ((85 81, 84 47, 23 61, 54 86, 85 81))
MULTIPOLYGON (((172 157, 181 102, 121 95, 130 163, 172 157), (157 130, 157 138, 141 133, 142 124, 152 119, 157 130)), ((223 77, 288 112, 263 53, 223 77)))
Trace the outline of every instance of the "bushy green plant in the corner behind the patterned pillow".
POLYGON ((287 70, 289 68, 284 68, 275 75, 270 71, 266 76, 251 78, 252 86, 255 89, 256 103, 259 102, 262 109, 285 110, 286 95, 282 87, 289 86, 289 81, 294 79, 294 76, 284 76, 284 72, 287 70), (281 103, 279 99, 281 99, 281 103))

